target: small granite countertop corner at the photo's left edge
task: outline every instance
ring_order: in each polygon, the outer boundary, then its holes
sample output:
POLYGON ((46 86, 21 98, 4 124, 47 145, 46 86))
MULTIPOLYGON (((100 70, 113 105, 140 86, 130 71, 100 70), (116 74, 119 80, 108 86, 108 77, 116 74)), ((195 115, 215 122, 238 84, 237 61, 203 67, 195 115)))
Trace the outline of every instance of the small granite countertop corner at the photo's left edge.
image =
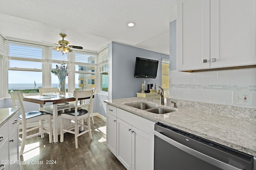
POLYGON ((9 107, 0 109, 0 127, 4 125, 17 111, 20 107, 9 107))

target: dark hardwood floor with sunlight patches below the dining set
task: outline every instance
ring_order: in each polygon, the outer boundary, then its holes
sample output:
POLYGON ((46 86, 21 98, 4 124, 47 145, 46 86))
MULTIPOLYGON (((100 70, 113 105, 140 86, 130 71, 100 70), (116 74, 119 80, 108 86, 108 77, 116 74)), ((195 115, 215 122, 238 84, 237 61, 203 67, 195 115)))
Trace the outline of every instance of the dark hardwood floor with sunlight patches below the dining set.
POLYGON ((94 121, 94 125, 91 121, 92 140, 88 133, 78 137, 78 149, 75 148, 74 135, 70 133, 64 134, 63 143, 55 145, 49 143, 47 133, 43 139, 28 139, 20 161, 30 164, 20 164, 20 170, 125 170, 106 147, 106 122, 97 116, 94 121))

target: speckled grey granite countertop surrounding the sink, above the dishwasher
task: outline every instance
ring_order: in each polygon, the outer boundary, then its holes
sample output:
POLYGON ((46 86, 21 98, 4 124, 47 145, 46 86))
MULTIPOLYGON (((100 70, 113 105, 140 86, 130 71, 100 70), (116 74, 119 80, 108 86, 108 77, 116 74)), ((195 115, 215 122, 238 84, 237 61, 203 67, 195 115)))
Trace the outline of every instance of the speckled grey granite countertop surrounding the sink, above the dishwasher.
MULTIPOLYGON (((164 123, 204 139, 256 156, 255 119, 242 119, 240 117, 220 115, 209 112, 207 109, 200 110, 190 107, 179 107, 178 104, 178 108, 174 108, 171 103, 170 105, 161 106, 160 100, 149 98, 124 98, 105 100, 104 102, 151 121, 164 123), (136 102, 157 104, 159 107, 166 107, 176 111, 166 114, 155 114, 125 105, 136 102)), ((219 109, 222 109, 222 107, 223 105, 220 105, 219 109)), ((255 109, 253 112, 255 112, 255 109)))

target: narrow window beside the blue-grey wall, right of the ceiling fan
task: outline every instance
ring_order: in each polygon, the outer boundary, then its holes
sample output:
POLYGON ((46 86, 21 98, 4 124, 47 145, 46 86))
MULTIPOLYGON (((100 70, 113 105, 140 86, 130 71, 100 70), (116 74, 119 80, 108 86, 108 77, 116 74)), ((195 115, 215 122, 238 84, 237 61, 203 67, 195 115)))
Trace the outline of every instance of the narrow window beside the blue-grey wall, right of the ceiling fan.
POLYGON ((98 53, 100 67, 100 90, 108 92, 108 47, 98 53))

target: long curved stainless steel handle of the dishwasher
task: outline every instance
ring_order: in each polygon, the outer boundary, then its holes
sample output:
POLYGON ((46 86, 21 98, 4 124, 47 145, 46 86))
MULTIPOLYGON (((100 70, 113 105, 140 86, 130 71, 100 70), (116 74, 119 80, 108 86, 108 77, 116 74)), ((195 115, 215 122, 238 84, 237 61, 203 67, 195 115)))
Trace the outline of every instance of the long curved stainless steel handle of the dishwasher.
POLYGON ((187 152, 188 154, 191 154, 201 160, 204 160, 205 162, 208 162, 209 164, 212 164, 214 166, 217 166, 218 168, 222 168, 225 170, 242 170, 240 168, 236 168, 230 164, 226 164, 224 162, 221 162, 220 160, 217 160, 215 158, 212 158, 210 156, 207 156, 206 154, 203 154, 201 152, 198 152, 197 150, 191 149, 185 145, 182 145, 181 143, 178 143, 168 137, 166 137, 165 135, 162 135, 161 133, 154 131, 154 135, 156 135, 157 137, 159 137, 160 139, 166 141, 167 143, 173 145, 174 147, 183 150, 184 152, 187 152))

